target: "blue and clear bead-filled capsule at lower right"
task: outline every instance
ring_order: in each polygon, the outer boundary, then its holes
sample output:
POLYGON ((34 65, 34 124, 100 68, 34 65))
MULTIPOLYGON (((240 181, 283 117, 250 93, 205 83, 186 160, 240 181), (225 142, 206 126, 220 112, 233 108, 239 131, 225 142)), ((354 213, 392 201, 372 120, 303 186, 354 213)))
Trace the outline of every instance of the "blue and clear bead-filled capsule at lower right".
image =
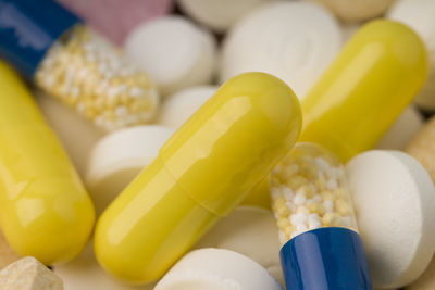
POLYGON ((314 143, 297 143, 270 176, 287 289, 371 290, 345 167, 314 143))

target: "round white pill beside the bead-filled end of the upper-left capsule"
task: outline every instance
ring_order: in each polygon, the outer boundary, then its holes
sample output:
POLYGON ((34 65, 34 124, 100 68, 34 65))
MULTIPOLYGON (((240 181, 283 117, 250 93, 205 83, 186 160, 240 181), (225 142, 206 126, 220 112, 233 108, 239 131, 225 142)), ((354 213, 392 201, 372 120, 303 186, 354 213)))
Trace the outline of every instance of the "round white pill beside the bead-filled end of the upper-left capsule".
POLYGON ((158 85, 163 96, 209 84, 214 73, 215 40, 182 16, 163 16, 135 28, 126 54, 158 85))

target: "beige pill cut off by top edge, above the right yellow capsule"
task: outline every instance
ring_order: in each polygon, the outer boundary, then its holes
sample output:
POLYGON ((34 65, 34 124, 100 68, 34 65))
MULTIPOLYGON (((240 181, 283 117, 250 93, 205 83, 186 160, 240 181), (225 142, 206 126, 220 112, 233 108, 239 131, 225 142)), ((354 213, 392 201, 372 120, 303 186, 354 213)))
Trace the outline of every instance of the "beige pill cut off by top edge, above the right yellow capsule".
MULTIPOLYGON (((310 0, 327 7, 345 22, 361 22, 381 16, 396 0, 310 0)), ((413 1, 413 0, 412 0, 413 1)))

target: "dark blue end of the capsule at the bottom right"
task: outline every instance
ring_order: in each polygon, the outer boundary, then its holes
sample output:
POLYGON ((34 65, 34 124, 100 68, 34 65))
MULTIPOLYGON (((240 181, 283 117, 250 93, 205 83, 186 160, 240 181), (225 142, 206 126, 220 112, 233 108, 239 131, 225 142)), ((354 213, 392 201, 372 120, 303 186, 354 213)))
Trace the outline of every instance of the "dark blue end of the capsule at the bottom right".
POLYGON ((361 237, 347 228, 319 228, 281 249, 287 290, 373 290, 361 237))

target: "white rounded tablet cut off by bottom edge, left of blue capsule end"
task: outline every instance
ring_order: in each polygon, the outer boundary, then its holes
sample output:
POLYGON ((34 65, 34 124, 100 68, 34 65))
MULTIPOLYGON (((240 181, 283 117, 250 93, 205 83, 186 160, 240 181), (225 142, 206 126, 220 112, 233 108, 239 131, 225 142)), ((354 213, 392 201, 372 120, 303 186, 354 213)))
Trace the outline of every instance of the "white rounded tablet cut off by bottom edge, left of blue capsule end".
POLYGON ((196 250, 160 280, 154 290, 282 290, 269 273, 239 253, 222 249, 196 250))

